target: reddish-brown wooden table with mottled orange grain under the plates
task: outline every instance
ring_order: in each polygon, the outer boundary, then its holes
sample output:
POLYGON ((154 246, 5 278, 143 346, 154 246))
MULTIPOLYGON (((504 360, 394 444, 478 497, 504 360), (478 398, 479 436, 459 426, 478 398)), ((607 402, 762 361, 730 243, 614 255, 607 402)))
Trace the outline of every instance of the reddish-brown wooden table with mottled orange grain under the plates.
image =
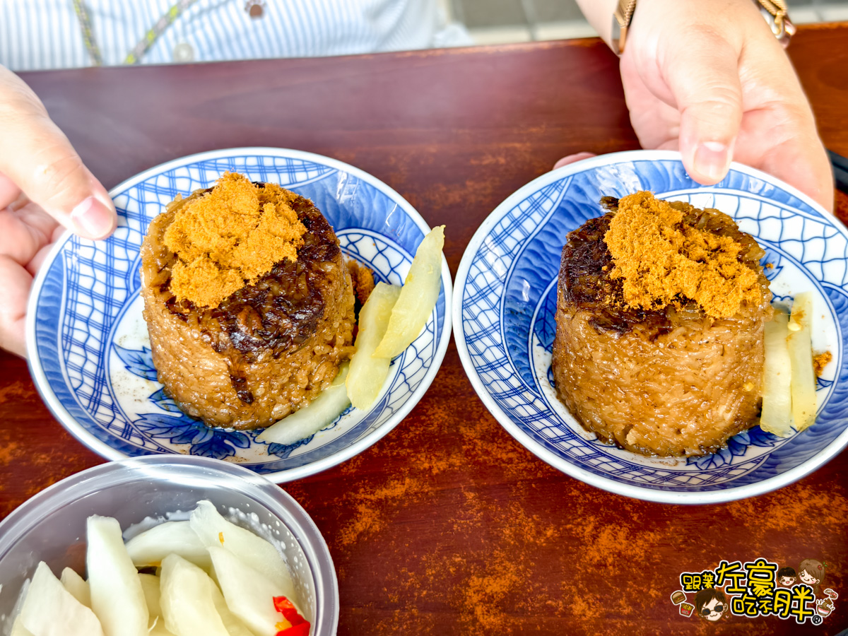
MULTIPOLYGON (((789 49, 829 148, 848 154, 848 24, 789 49)), ((448 226, 455 272, 472 233, 568 153, 638 148, 617 60, 598 40, 130 69, 25 81, 112 187, 213 148, 277 146, 342 159, 448 226)), ((838 198, 848 219, 848 197, 838 198)), ((0 354, 0 516, 103 460, 47 412, 26 365, 0 354)), ((287 491, 335 561, 340 634, 816 633, 848 627, 843 453, 776 493, 731 504, 650 504, 536 459, 494 420, 453 344, 393 432, 287 491), (678 614, 687 570, 721 559, 828 562, 840 600, 820 627, 678 614)))

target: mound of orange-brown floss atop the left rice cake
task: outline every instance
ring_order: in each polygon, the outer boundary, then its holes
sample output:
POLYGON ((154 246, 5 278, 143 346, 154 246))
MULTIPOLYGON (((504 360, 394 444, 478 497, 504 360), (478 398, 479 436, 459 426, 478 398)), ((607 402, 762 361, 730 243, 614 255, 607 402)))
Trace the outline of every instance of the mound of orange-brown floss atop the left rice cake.
POLYGON ((171 293, 178 301, 217 307, 277 262, 297 260, 306 228, 292 207, 295 198, 275 184, 226 172, 211 191, 179 209, 165 231, 177 259, 171 293))

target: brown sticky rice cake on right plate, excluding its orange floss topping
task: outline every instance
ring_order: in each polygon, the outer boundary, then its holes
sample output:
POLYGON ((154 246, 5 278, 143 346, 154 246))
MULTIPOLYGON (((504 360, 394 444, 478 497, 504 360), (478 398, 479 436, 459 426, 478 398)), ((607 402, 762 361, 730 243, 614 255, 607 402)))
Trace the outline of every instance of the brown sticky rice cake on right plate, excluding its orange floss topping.
MULTIPOLYGON (((763 325, 772 315, 759 264, 764 252, 728 215, 674 202, 678 229, 734 243, 738 255, 730 260, 738 271, 753 272, 746 274, 747 295, 723 316, 709 315, 683 293, 634 305, 605 240, 619 202, 606 198, 605 205, 610 211, 571 232, 562 251, 552 360, 557 395, 583 427, 623 449, 661 456, 714 452, 759 415, 763 325)), ((626 243, 632 247, 640 239, 630 231, 626 243)), ((661 259, 651 249, 644 254, 645 260, 661 259)), ((695 264, 708 258, 700 254, 695 264)), ((630 265, 648 276, 647 265, 630 265)), ((710 303, 723 299, 701 301, 714 310, 710 303)))

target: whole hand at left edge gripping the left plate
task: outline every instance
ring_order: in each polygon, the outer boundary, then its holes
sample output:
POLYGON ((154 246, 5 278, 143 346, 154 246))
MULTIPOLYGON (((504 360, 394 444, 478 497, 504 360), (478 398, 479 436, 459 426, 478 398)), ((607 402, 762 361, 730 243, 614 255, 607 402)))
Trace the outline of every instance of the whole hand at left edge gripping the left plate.
POLYGON ((114 204, 44 105, 0 66, 0 347, 26 355, 32 278, 64 232, 105 238, 114 204))

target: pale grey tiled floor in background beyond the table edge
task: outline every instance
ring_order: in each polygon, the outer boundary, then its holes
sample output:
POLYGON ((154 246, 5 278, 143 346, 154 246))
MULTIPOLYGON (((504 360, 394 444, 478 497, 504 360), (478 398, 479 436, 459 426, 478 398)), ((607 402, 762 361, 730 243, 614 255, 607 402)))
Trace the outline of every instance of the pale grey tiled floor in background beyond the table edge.
MULTIPOLYGON (((574 0, 447 0, 477 44, 594 36, 574 0)), ((848 20, 848 3, 790 0, 796 24, 848 20)))

